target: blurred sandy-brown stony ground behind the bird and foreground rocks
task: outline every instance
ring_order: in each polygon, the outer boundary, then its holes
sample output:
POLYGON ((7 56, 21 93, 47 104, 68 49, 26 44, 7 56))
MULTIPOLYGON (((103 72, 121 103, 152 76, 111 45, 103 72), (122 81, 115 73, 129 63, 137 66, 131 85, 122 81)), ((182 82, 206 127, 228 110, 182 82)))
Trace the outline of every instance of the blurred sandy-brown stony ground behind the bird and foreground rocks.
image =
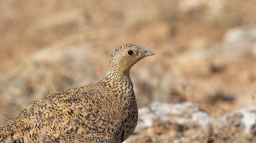
MULTIPOLYGON (((255 5, 254 0, 1 0, 0 124, 46 95, 99 81, 112 50, 123 44, 155 52, 131 71, 139 107, 192 102, 213 118, 251 107, 255 5)), ((130 141, 173 141, 158 140, 162 134, 130 141)))

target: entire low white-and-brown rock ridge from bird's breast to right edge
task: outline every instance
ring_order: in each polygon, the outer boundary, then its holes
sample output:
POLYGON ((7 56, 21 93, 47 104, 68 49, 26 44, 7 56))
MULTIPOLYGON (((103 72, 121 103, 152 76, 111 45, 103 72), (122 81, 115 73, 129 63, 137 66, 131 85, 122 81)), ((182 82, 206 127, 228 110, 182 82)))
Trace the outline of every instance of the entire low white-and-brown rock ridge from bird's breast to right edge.
POLYGON ((153 102, 139 108, 138 125, 126 142, 232 142, 234 138, 256 141, 256 107, 213 117, 192 102, 153 102))

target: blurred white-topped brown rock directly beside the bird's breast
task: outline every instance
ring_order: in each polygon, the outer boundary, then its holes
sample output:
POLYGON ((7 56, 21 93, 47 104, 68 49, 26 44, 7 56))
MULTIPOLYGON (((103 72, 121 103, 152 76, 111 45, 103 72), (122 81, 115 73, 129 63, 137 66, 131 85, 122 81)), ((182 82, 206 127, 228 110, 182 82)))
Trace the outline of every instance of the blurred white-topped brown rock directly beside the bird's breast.
POLYGON ((153 102, 139 109, 134 135, 126 142, 193 142, 208 138, 213 117, 197 104, 153 102))

